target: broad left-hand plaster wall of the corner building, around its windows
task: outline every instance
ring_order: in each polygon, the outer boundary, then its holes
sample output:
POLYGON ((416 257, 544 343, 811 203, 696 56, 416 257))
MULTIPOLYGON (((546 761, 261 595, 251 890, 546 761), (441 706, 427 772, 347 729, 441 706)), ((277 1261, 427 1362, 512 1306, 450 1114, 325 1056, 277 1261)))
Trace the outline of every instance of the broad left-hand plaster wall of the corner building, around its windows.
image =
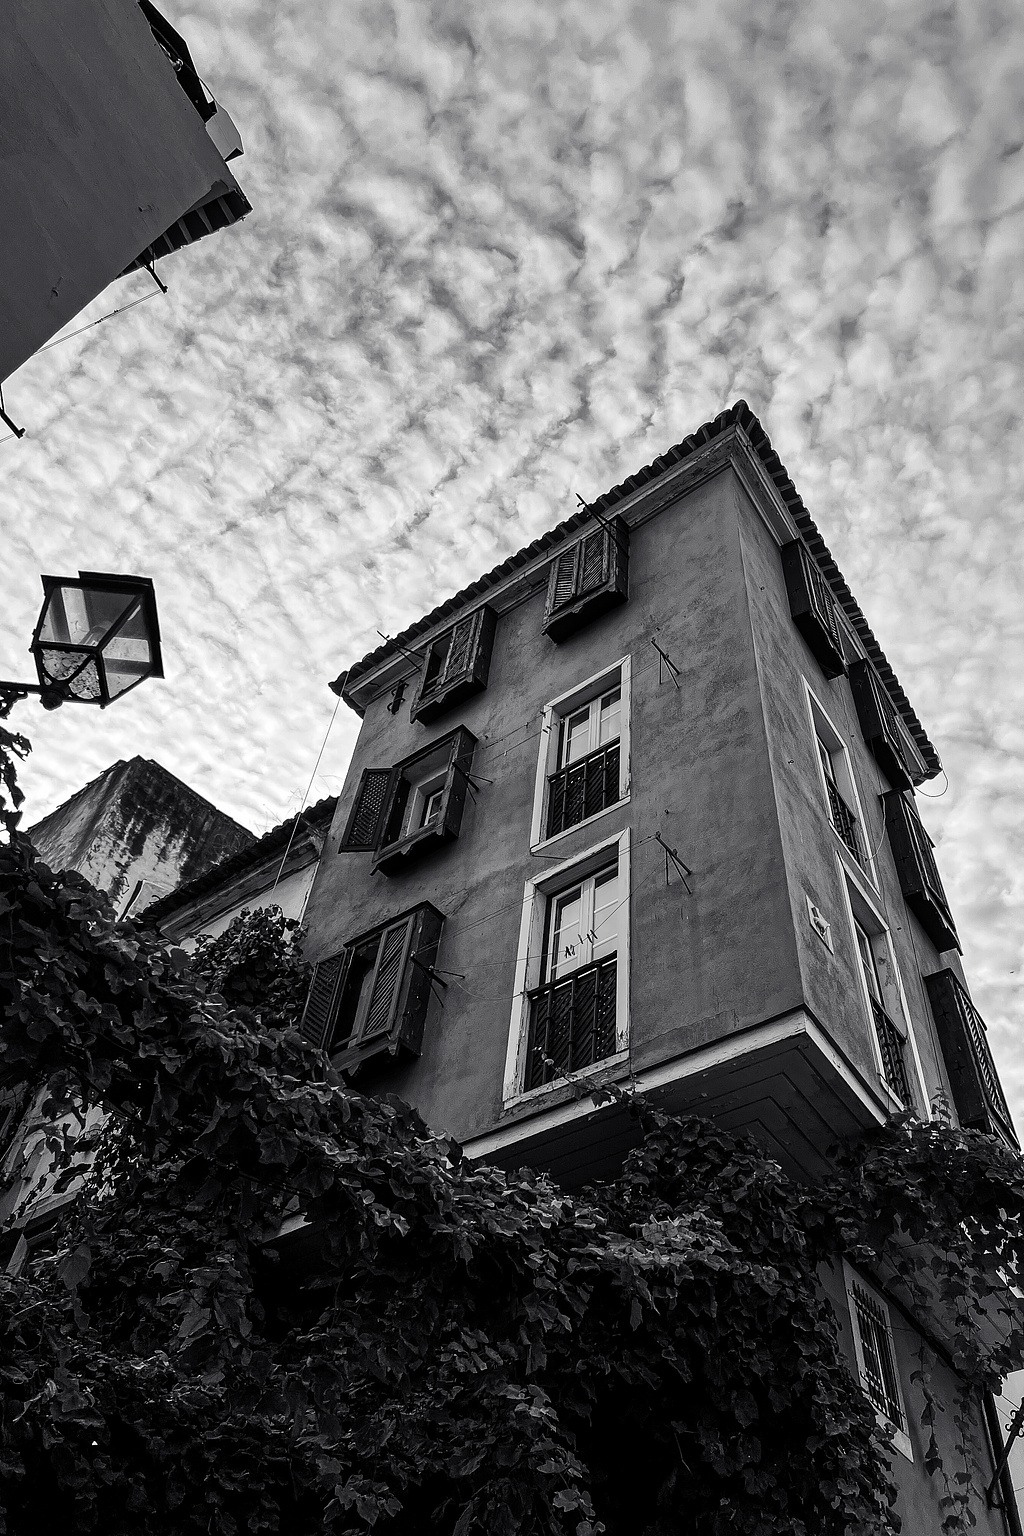
POLYGON ((540 630, 543 593, 499 617, 485 693, 430 728, 388 697, 365 714, 307 908, 316 960, 419 902, 445 914, 422 1055, 387 1086, 436 1127, 468 1138, 500 1115, 524 882, 631 828, 633 1064, 677 1057, 800 1003, 781 842, 758 697, 738 519, 725 472, 633 530, 629 602, 562 645, 540 630), (651 637, 680 668, 659 682, 651 637), (542 707, 619 657, 633 659, 631 800, 530 854, 542 707), (401 876, 338 843, 364 766, 390 765, 456 725, 479 739, 459 839, 401 876), (692 868, 665 883, 660 831, 692 868))

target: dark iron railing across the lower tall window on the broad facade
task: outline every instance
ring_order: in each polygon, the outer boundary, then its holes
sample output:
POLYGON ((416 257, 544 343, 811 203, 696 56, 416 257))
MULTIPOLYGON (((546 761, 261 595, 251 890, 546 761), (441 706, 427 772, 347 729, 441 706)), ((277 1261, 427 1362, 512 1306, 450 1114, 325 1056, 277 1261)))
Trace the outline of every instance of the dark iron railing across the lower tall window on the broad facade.
POLYGON ((616 957, 530 992, 527 1087, 593 1066, 616 1049, 616 957))

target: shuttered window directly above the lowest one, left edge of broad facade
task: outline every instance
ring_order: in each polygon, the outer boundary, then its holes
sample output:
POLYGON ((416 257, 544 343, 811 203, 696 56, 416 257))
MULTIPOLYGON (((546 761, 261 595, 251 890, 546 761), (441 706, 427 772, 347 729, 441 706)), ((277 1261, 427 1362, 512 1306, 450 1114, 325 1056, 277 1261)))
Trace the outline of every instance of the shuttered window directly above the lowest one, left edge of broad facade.
POLYGON ((459 727, 395 768, 364 768, 341 851, 373 852, 375 871, 398 874, 457 837, 474 746, 459 727))

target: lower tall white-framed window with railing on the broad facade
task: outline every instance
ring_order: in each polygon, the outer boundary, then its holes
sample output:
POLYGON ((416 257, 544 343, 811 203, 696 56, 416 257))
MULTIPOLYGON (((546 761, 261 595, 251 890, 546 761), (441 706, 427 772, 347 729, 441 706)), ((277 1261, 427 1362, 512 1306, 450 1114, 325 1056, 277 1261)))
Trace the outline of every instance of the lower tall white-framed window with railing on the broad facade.
POLYGON ((527 886, 507 1098, 625 1049, 628 879, 623 833, 527 886))

